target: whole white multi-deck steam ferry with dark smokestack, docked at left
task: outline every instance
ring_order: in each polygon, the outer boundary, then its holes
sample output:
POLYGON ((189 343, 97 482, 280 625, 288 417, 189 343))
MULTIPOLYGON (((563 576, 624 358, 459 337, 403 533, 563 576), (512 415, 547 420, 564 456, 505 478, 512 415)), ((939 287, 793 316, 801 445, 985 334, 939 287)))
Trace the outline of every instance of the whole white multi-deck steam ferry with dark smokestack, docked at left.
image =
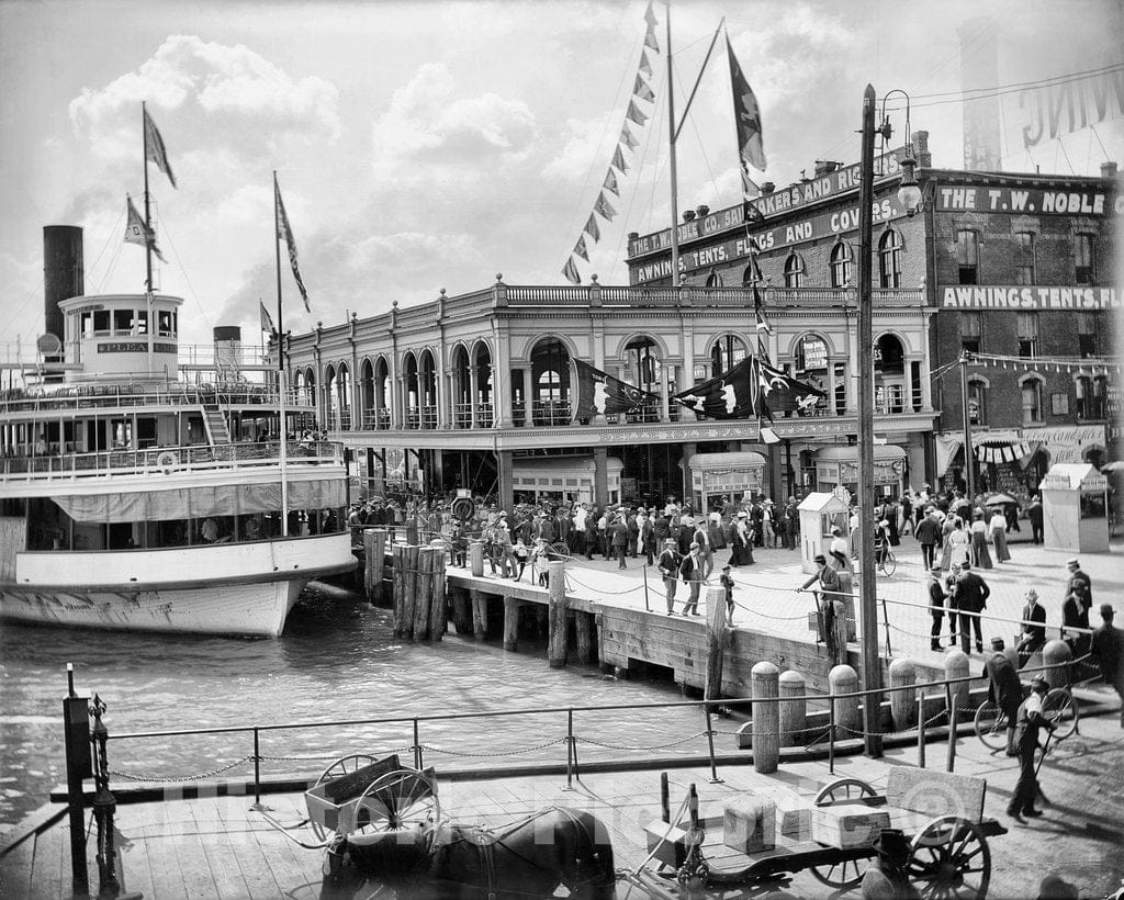
POLYGON ((44 248, 56 339, 0 391, 0 618, 280 635, 355 564, 342 445, 237 328, 184 357, 180 298, 87 296, 81 229, 44 248))

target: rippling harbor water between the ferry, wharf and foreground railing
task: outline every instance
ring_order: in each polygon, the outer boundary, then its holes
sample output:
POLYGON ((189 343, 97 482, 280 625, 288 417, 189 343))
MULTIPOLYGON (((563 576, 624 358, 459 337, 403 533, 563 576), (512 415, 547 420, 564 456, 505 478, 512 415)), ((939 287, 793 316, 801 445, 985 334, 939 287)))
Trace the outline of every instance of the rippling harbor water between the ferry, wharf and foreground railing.
MULTIPOLYGON (((355 598, 306 591, 277 640, 187 635, 81 633, 4 624, 0 631, 0 828, 46 802, 65 781, 61 700, 66 663, 80 694, 101 694, 110 735, 285 721, 368 719, 544 708, 677 701, 670 682, 614 681, 593 666, 552 670, 542 642, 520 652, 498 642, 446 635, 410 644, 391 634, 391 613, 355 598)), ((719 726, 720 727, 720 726, 719 726)), ((617 747, 667 745, 704 728, 694 709, 613 710, 574 715, 574 733, 617 747)), ((564 712, 423 722, 425 762, 495 765, 505 761, 564 762, 564 712), (453 751, 446 753, 444 751, 453 751), (502 751, 528 751, 495 757, 502 751), (474 754, 474 755, 461 755, 474 754), (487 754, 487 755, 486 755, 487 754)), ((728 738, 727 738, 728 742, 728 738)), ((411 725, 263 733, 262 774, 316 772, 347 753, 391 751, 410 761, 411 725)), ((580 743, 583 761, 646 756, 580 743)), ((659 753, 701 753, 696 738, 659 753)), ((719 749, 728 749, 728 743, 719 749)), ((190 776, 253 753, 248 734, 109 743, 110 769, 144 775, 190 776)), ((230 776, 252 774, 244 763, 230 776)))

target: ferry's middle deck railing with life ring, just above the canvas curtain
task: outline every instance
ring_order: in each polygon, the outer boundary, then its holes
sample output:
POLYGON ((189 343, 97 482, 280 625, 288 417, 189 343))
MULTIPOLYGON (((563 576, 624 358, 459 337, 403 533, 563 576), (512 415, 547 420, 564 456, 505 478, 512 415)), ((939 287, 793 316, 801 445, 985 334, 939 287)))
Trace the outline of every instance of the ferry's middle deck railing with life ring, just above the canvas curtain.
MULTIPOLYGON (((343 445, 328 440, 287 440, 289 465, 343 465, 343 445)), ((15 456, 3 460, 0 481, 74 481, 106 475, 164 475, 278 466, 281 442, 193 444, 189 446, 110 449, 15 456)))

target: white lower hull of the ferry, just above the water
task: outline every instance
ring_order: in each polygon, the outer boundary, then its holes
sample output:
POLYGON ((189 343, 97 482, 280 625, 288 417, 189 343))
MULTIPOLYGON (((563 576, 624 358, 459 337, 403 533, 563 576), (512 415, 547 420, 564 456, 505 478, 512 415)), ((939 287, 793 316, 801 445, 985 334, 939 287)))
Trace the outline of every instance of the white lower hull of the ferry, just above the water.
POLYGON ((0 584, 0 618, 81 628, 278 637, 311 579, 346 572, 355 564, 347 535, 179 552, 62 554, 85 556, 98 565, 100 583, 85 584, 80 583, 82 565, 67 565, 57 553, 49 554, 55 583, 47 583, 47 572, 40 570, 47 560, 37 558, 47 555, 18 555, 17 583, 0 584), (232 551, 243 565, 229 564, 232 551), (255 564, 260 558, 273 564, 263 571, 255 564), (149 578, 123 579, 123 561, 130 566, 127 571, 155 569, 149 578), (58 583, 61 578, 71 583, 58 583))

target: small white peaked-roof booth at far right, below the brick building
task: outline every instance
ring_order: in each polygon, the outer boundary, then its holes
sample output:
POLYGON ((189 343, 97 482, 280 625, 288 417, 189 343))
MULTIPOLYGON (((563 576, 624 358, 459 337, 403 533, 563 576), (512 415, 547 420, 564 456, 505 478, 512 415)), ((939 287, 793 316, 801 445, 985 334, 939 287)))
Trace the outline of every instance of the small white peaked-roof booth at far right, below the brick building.
POLYGON ((1039 484, 1046 549, 1108 552, 1108 479, 1090 463, 1057 463, 1039 484))

